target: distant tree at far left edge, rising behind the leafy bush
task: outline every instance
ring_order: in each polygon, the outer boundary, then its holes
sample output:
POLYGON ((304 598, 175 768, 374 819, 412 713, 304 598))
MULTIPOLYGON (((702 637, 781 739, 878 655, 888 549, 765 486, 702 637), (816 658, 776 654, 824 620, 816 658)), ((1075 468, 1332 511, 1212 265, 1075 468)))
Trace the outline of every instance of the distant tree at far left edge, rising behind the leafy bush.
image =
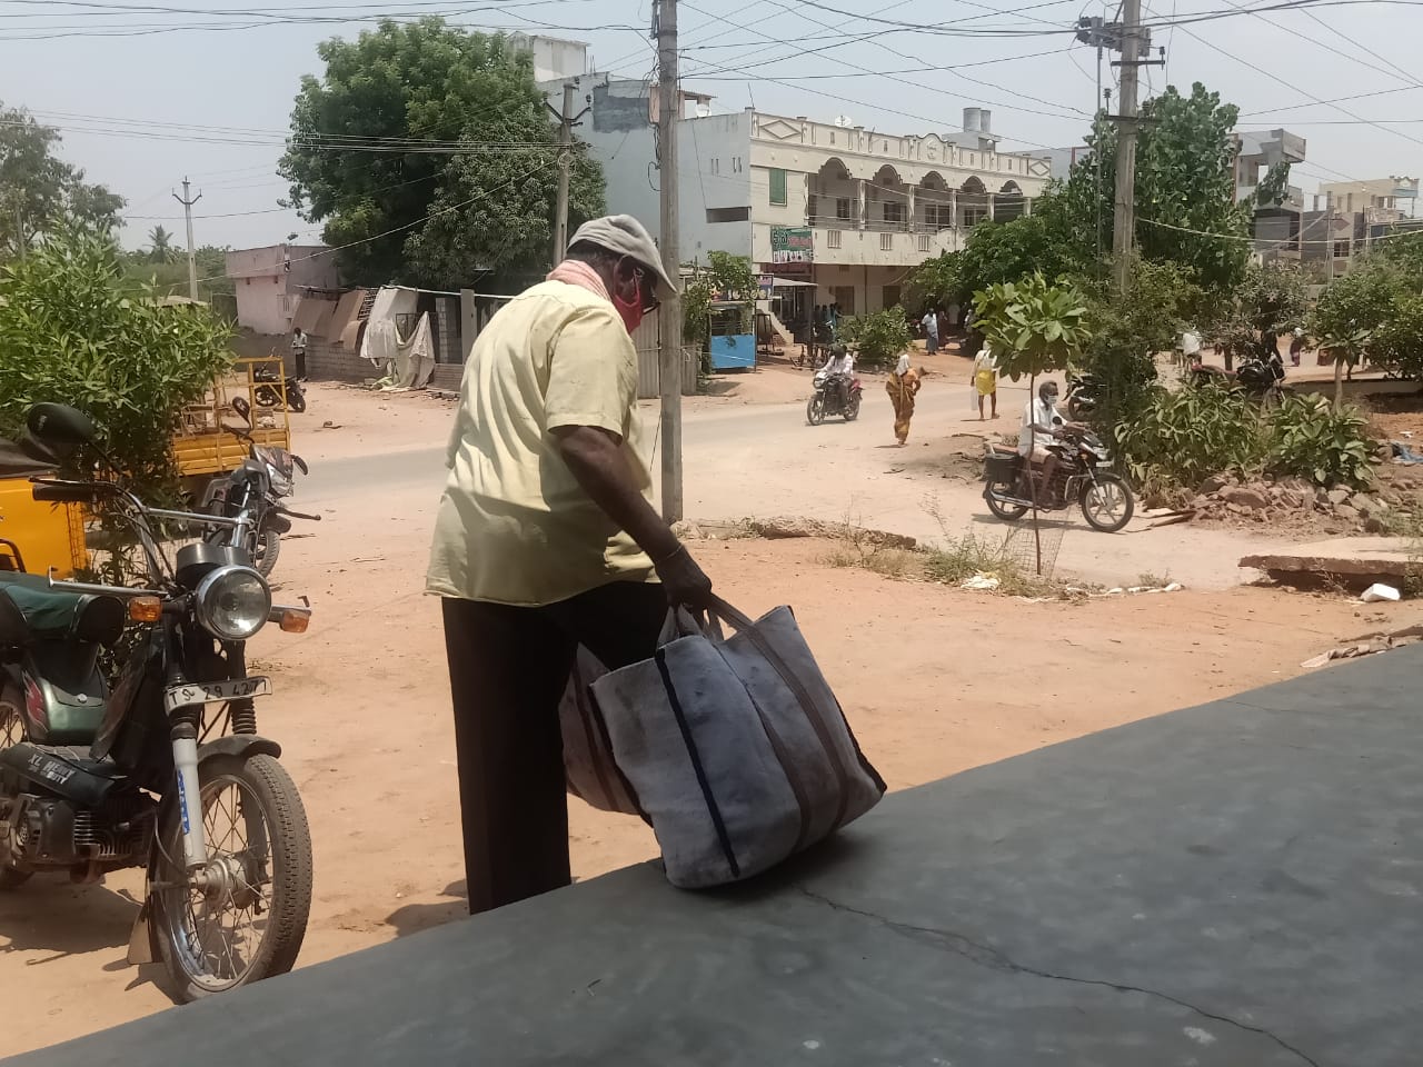
POLYGON ((23 108, 0 105, 0 252, 14 256, 61 219, 108 230, 124 199, 84 181, 55 155, 60 132, 23 108))

